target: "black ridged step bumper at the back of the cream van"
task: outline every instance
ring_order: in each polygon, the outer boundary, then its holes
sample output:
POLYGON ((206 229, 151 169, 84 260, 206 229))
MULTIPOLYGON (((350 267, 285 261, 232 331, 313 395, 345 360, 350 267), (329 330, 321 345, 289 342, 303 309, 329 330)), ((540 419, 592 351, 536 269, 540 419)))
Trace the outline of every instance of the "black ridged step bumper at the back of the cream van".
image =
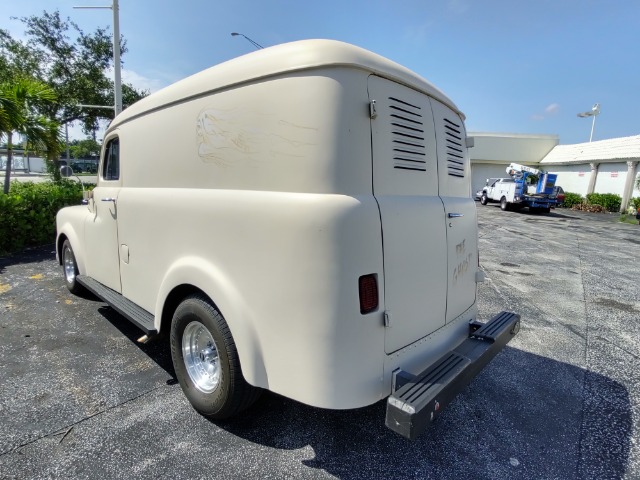
POLYGON ((386 425, 415 440, 520 330, 520 315, 502 312, 472 324, 469 338, 404 384, 387 399, 386 425))

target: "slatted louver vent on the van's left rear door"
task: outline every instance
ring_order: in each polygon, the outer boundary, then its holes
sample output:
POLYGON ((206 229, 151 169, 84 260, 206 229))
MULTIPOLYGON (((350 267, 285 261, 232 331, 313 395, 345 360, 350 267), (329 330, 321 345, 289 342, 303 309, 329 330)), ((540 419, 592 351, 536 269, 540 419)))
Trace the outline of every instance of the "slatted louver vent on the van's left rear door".
POLYGON ((426 172, 426 148, 421 108, 389 97, 393 168, 426 172))

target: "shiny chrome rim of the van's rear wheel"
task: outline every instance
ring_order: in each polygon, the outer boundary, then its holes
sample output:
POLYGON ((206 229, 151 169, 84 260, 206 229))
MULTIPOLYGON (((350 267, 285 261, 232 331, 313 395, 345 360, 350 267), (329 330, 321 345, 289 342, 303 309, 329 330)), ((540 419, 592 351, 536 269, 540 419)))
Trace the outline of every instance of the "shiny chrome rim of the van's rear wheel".
POLYGON ((182 334, 182 358, 191 381, 203 393, 220 383, 220 357, 211 333, 202 323, 189 323, 182 334))

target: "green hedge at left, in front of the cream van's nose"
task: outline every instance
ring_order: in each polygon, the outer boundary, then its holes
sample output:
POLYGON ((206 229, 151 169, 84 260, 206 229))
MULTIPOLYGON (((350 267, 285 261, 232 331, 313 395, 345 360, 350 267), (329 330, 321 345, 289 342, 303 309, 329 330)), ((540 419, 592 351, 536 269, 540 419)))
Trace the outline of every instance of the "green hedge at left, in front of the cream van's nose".
POLYGON ((78 182, 12 182, 8 195, 0 193, 0 255, 53 243, 56 213, 81 201, 78 182))

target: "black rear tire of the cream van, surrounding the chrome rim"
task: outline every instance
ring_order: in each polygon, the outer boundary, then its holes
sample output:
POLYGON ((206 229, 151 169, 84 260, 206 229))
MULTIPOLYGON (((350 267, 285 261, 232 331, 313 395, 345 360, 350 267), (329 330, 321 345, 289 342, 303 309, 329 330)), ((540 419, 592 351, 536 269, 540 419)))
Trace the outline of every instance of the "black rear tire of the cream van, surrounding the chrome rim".
MULTIPOLYGON (((189 338, 191 337, 187 332, 187 339, 189 338)), ((187 400, 201 415, 216 420, 229 418, 251 406, 260 396, 262 390, 249 385, 242 375, 240 358, 227 322, 204 295, 194 294, 178 305, 171 321, 170 342, 171 358, 180 387, 187 400), (201 326, 206 329, 210 337, 206 337, 206 332, 201 326), (196 331, 200 331, 201 334, 195 335, 195 338, 202 335, 203 338, 213 339, 214 344, 207 344, 206 350, 207 352, 215 350, 217 361, 205 360, 206 355, 203 353, 205 350, 196 353, 195 357, 196 361, 200 358, 205 365, 217 365, 218 377, 215 382, 211 380, 212 375, 204 374, 204 380, 199 386, 193 376, 198 372, 189 373, 187 367, 189 360, 185 360, 183 349, 187 328, 189 331, 194 331, 194 328, 200 329, 196 331), (207 384, 204 388, 202 383, 207 381, 214 385, 207 384)))

